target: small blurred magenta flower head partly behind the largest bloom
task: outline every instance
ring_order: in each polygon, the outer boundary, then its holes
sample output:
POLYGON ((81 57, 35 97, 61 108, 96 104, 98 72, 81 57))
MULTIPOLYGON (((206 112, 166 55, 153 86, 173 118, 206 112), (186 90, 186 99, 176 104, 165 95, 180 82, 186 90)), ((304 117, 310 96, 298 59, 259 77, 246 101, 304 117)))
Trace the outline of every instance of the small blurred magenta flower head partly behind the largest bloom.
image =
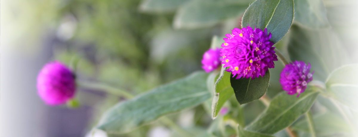
POLYGON ((220 49, 207 50, 202 59, 202 68, 205 72, 209 73, 219 67, 220 63, 220 49))

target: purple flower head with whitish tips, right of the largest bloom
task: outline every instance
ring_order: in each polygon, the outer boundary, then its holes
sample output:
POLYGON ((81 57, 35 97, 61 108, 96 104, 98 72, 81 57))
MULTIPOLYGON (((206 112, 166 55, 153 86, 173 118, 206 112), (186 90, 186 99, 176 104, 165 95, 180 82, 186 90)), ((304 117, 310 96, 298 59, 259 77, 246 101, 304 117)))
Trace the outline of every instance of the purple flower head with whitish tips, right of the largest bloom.
POLYGON ((307 83, 311 82, 313 73, 310 73, 311 64, 308 65, 303 61, 295 61, 286 64, 281 72, 280 83, 282 89, 287 91, 287 94, 293 95, 298 93, 300 96, 307 88, 307 83))

